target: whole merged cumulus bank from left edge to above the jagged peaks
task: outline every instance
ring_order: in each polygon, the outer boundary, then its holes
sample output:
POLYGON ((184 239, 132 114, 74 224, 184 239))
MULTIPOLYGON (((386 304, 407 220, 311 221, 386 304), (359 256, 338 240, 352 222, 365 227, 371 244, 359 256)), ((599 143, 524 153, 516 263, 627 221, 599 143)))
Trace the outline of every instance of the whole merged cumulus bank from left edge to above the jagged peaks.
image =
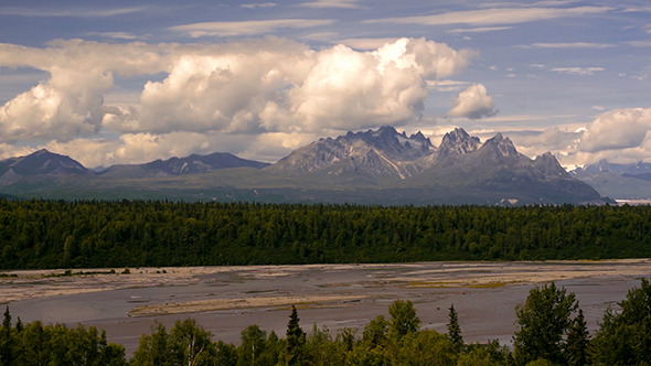
POLYGON ((280 139, 289 149, 289 141, 324 131, 418 120, 428 83, 459 73, 472 56, 425 39, 392 40, 363 52, 344 45, 311 50, 278 37, 212 45, 0 44, 0 67, 46 73, 0 106, 0 143, 87 151, 79 160, 98 165, 126 162, 130 153, 161 158, 210 149, 270 157, 271 150, 250 148, 256 139, 280 139), (148 75, 156 79, 143 82, 138 100, 110 97, 116 79, 148 75), (226 149, 207 137, 242 146, 226 149), (103 163, 92 150, 104 151, 103 163))

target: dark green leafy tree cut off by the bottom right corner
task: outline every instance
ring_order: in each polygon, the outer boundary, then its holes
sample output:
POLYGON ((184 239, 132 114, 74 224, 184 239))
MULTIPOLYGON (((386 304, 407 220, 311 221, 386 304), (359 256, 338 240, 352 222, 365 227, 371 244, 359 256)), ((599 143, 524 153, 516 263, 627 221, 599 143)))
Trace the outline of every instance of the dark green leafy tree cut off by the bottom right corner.
POLYGON ((621 312, 608 309, 590 342, 593 360, 598 365, 651 364, 651 284, 642 279, 619 303, 621 312))

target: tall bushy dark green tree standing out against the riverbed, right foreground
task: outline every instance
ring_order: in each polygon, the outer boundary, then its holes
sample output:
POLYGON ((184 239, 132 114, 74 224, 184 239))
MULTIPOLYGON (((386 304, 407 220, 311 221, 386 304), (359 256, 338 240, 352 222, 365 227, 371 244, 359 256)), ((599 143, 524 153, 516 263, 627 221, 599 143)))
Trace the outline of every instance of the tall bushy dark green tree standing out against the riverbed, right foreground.
POLYGON ((513 337, 515 359, 522 365, 537 359, 565 364, 565 335, 577 309, 574 293, 554 282, 533 288, 525 303, 515 308, 520 325, 513 337))

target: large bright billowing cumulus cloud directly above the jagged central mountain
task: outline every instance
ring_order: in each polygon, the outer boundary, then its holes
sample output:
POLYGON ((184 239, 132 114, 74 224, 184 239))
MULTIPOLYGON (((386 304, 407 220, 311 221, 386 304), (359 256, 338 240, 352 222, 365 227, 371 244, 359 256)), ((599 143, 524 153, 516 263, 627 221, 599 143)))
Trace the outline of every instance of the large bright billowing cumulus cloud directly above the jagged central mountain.
POLYGON ((469 53, 402 39, 373 52, 312 51, 276 40, 211 55, 183 55, 148 83, 141 129, 305 132, 417 118, 426 80, 460 72, 469 53))

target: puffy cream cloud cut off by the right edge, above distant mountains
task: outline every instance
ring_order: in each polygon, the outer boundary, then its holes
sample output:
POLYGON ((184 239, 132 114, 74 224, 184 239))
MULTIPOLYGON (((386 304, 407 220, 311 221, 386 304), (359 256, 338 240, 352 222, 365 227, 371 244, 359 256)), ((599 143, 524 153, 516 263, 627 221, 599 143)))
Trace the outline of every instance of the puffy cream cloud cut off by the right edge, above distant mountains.
POLYGON ((616 109, 599 115, 587 128, 579 149, 585 152, 637 148, 651 129, 651 108, 616 109))

